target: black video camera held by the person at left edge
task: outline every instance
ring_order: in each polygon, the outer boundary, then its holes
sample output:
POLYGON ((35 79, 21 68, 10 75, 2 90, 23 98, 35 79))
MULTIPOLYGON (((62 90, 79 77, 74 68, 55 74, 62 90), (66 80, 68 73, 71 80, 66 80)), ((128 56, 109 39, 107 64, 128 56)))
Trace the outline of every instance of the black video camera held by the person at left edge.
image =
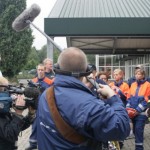
POLYGON ((39 85, 32 83, 32 81, 28 81, 28 86, 24 88, 14 85, 0 85, 0 87, 5 88, 4 91, 0 92, 0 112, 9 112, 11 106, 20 110, 26 109, 29 106, 33 109, 37 109, 38 96, 40 94, 39 85), (24 95, 25 105, 17 106, 15 103, 16 99, 13 99, 13 96, 11 97, 13 94, 24 95))

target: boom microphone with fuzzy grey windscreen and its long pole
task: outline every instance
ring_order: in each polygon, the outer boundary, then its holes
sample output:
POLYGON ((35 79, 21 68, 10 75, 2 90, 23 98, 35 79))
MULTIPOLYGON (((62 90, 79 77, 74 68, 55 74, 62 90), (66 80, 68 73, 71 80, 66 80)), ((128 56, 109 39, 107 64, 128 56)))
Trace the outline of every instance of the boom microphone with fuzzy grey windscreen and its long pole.
POLYGON ((32 21, 39 15, 41 9, 37 4, 33 4, 29 9, 24 10, 12 23, 12 28, 19 32, 27 28, 30 24, 42 33, 48 41, 50 41, 56 48, 62 51, 62 48, 57 45, 45 32, 40 30, 32 21))

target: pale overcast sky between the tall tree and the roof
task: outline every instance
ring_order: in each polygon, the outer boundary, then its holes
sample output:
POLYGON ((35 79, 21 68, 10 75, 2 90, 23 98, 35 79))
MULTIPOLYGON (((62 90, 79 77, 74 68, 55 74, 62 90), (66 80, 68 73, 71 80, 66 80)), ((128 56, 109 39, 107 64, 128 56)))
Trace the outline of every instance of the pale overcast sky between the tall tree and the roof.
MULTIPOLYGON (((57 0, 27 0, 27 8, 29 8, 34 3, 38 4, 41 8, 40 14, 35 18, 33 23, 42 31, 44 31, 44 18, 48 17, 56 1, 57 0)), ((41 49, 41 47, 47 43, 47 39, 35 28, 32 29, 33 35, 35 37, 33 46, 35 46, 36 49, 41 49)), ((66 47, 65 38, 57 37, 54 40, 60 47, 62 48, 66 47)))

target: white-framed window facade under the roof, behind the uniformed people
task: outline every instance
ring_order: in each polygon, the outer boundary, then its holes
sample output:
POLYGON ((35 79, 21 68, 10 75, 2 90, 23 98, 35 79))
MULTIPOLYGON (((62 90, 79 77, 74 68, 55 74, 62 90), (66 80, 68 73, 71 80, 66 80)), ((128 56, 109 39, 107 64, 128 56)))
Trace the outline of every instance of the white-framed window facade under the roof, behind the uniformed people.
POLYGON ((124 79, 128 80, 134 75, 134 68, 138 64, 144 66, 146 75, 150 77, 150 54, 132 57, 129 55, 96 55, 97 70, 111 72, 111 79, 113 79, 113 70, 120 68, 125 73, 124 79))

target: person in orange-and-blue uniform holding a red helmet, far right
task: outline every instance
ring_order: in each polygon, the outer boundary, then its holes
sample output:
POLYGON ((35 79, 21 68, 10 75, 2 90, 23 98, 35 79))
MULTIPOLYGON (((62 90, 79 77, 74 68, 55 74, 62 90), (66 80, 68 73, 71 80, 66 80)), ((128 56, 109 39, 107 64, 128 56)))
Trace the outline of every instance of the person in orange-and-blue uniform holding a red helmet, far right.
POLYGON ((143 150, 144 127, 147 120, 145 110, 150 95, 150 83, 145 78, 144 69, 135 71, 136 82, 131 84, 130 98, 126 105, 129 117, 133 123, 135 135, 135 150, 143 150))

